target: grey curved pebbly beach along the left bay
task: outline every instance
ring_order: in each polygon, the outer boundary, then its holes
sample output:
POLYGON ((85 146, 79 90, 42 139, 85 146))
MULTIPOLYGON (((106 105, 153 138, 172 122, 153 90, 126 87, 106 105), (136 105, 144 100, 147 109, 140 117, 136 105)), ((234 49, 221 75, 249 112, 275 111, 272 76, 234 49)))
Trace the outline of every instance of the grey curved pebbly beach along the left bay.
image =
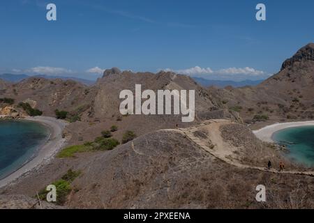
POLYGON ((29 174, 33 169, 38 169, 43 164, 50 162, 50 160, 52 160, 54 155, 66 142, 66 139, 62 138, 62 132, 66 127, 66 122, 58 120, 57 118, 45 116, 27 117, 23 120, 36 121, 47 126, 47 128, 50 130, 49 139, 47 139, 45 144, 38 150, 36 157, 33 157, 33 159, 24 164, 23 167, 17 169, 17 171, 13 172, 6 178, 0 180, 0 187, 8 185, 9 183, 17 180, 17 178, 29 174))

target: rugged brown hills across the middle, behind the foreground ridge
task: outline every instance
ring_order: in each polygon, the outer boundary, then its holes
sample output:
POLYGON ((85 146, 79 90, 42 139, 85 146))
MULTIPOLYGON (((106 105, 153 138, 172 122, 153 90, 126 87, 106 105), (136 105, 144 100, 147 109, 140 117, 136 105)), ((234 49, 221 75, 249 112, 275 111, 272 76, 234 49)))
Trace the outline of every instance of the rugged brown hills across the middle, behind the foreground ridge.
POLYGON ((68 125, 66 132, 72 137, 69 144, 92 141, 95 135, 117 125, 114 137, 121 139, 126 130, 140 136, 164 128, 186 127, 210 118, 231 118, 241 122, 237 112, 228 111, 219 97, 211 95, 209 89, 198 85, 193 79, 173 72, 130 72, 112 68, 105 70, 102 78, 93 86, 73 80, 31 77, 18 83, 0 83, 0 98, 13 98, 13 105, 0 103, 0 114, 25 116, 17 105, 27 102, 39 109, 44 116, 55 116, 56 109, 68 112, 75 122, 68 125), (182 123, 181 115, 126 115, 119 112, 119 94, 128 89, 135 92, 135 84, 145 89, 195 90, 195 121, 182 123), (10 112, 11 111, 11 112, 10 112), (80 120, 80 121, 76 121, 80 120))

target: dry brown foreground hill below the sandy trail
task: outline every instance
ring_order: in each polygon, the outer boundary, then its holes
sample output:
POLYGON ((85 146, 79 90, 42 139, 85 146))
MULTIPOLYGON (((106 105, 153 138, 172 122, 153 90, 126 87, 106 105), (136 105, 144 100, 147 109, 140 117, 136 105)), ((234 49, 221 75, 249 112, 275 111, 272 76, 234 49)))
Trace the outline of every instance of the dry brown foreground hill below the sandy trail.
POLYGON ((34 197, 72 169, 81 174, 64 203, 70 208, 313 208, 313 177, 265 171, 265 160, 280 153, 248 132, 230 121, 158 130, 112 151, 56 158, 0 193, 34 197), (206 141, 207 148, 201 146, 206 141), (261 170, 241 167, 248 162, 261 170), (261 183, 266 203, 255 200, 261 183))

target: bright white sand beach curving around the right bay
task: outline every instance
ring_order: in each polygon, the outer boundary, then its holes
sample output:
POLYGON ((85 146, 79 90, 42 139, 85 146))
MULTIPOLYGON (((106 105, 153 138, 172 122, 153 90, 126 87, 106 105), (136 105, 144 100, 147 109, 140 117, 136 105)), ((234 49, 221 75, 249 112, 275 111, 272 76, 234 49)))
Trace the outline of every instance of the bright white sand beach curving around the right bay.
POLYGON ((285 128, 292 128, 292 127, 301 127, 301 126, 310 126, 314 125, 314 121, 300 121, 294 123, 276 123, 273 125, 267 125, 260 130, 255 130, 253 133, 258 139, 267 142, 274 142, 272 136, 275 132, 279 130, 283 130, 285 128))

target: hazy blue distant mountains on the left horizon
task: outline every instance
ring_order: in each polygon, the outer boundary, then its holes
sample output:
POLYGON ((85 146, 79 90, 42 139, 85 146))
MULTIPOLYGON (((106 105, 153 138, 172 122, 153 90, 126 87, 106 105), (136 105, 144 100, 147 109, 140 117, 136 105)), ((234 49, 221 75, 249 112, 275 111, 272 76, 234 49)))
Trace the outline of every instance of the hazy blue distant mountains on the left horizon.
POLYGON ((29 77, 43 77, 46 79, 63 79, 63 80, 67 80, 67 79, 73 79, 77 82, 80 82, 82 84, 86 84, 86 85, 92 85, 94 84, 96 81, 92 81, 89 79, 82 79, 82 78, 77 78, 77 77, 61 77, 61 76, 47 76, 47 75, 35 75, 35 76, 29 76, 29 75, 13 75, 13 74, 2 74, 0 75, 0 79, 3 79, 6 82, 20 82, 22 81, 22 79, 27 79, 29 77))

